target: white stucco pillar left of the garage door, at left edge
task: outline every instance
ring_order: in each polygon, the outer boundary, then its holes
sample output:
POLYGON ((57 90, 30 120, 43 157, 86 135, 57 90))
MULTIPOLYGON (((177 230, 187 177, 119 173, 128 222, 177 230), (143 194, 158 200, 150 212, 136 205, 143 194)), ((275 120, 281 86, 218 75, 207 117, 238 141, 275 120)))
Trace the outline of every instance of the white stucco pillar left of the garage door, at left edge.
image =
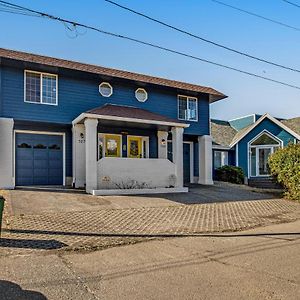
POLYGON ((0 118, 0 188, 12 189, 14 184, 14 121, 0 118))

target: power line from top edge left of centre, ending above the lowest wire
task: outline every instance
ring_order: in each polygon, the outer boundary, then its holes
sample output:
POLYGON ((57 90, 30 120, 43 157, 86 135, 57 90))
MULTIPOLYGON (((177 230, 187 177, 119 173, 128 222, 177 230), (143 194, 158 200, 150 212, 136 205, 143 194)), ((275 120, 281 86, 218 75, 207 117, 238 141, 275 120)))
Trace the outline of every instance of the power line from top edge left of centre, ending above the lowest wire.
POLYGON ((283 69, 285 69, 285 70, 289 70, 289 71, 294 71, 294 72, 300 73, 300 70, 299 70, 299 69, 295 69, 295 68, 292 68, 292 67, 284 66, 284 65, 282 65, 282 64, 279 64, 279 63, 276 63, 276 62, 272 62, 272 61, 269 61, 269 60, 266 60, 266 59, 263 59, 263 58, 259 58, 259 57, 256 57, 256 56, 254 56, 254 55, 251 55, 251 54, 248 54, 248 53, 245 53, 245 52, 242 52, 242 51, 239 51, 239 50, 230 48, 230 47, 228 47, 228 46, 225 46, 225 45, 222 45, 222 44, 220 44, 220 43, 214 42, 214 41, 212 41, 212 40, 203 38, 203 37, 201 37, 201 36, 199 36, 199 35, 196 35, 196 34, 194 34, 194 33, 188 32, 188 31, 186 31, 186 30, 184 30, 184 29, 181 29, 181 28, 179 28, 179 27, 175 27, 175 26, 173 26, 173 25, 170 25, 170 24, 168 24, 168 23, 165 23, 165 22, 163 22, 163 21, 161 21, 161 20, 155 19, 155 18, 153 18, 153 17, 151 17, 151 16, 149 16, 149 15, 146 15, 146 14, 143 14, 143 13, 141 13, 141 12, 138 12, 138 11, 132 9, 132 8, 126 7, 126 6, 121 5, 121 4, 117 3, 117 2, 114 2, 114 1, 111 1, 111 0, 104 0, 104 1, 107 2, 107 3, 110 3, 110 4, 112 4, 112 5, 115 5, 115 6, 119 7, 119 8, 121 8, 121 9, 124 9, 124 10, 127 10, 127 11, 131 12, 131 13, 134 13, 134 14, 136 14, 136 15, 138 15, 138 16, 141 16, 141 17, 143 17, 143 18, 146 18, 146 19, 148 19, 148 20, 150 20, 150 21, 153 21, 153 22, 158 23, 158 24, 160 24, 160 25, 166 26, 166 27, 168 27, 168 28, 170 28, 170 29, 173 29, 173 30, 175 30, 175 31, 177 31, 177 32, 186 34, 186 35, 188 35, 188 36, 190 36, 190 37, 196 38, 196 39, 198 39, 198 40, 201 40, 201 41, 203 41, 203 42, 206 42, 206 43, 209 43, 209 44, 211 44, 211 45, 217 46, 217 47, 219 47, 219 48, 222 48, 222 49, 231 51, 231 52, 233 52, 233 53, 236 53, 236 54, 239 54, 239 55, 242 55, 242 56, 246 56, 246 57, 248 57, 248 58, 257 60, 257 61, 259 61, 259 62, 263 62, 263 63, 269 64, 269 65, 272 65, 272 66, 275 66, 275 67, 279 67, 279 68, 283 68, 283 69))

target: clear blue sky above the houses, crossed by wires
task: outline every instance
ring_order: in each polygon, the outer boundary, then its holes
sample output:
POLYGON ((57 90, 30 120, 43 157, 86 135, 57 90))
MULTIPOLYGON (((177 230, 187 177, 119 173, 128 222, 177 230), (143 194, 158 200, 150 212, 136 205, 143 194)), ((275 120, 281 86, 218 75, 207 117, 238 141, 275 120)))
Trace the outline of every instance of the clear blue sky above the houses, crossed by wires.
MULTIPOLYGON (((7 0, 261 76, 300 86, 300 73, 260 63, 155 24, 103 0, 7 0)), ((115 0, 166 23, 270 61, 300 69, 300 29, 243 14, 211 0, 115 0)), ((282 0, 222 0, 300 28, 300 8, 282 0)), ((300 0, 293 0, 300 5, 300 0)), ((62 23, 0 12, 0 47, 210 86, 227 99, 211 105, 223 120, 252 113, 300 116, 300 89, 62 23)))

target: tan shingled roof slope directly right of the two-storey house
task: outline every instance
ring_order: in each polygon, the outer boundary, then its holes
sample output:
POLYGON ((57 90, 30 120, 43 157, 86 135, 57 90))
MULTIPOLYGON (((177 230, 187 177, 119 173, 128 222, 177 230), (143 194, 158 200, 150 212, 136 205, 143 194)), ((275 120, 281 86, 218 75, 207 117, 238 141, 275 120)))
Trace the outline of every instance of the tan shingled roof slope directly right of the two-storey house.
POLYGON ((229 147, 237 131, 227 121, 211 120, 210 125, 213 142, 223 147, 229 147))

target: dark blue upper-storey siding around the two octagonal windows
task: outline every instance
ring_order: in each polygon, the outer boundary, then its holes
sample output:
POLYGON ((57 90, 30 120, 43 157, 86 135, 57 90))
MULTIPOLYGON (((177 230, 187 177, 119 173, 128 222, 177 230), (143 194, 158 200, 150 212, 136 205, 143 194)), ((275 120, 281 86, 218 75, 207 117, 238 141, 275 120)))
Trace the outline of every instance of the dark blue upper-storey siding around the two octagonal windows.
MULTIPOLYGON (((175 89, 145 86, 148 100, 141 103, 135 98, 135 90, 140 87, 138 83, 105 80, 113 86, 113 95, 106 98, 98 90, 99 83, 104 81, 100 78, 84 73, 80 78, 72 76, 72 73, 58 75, 58 105, 32 104, 24 102, 24 70, 2 67, 3 115, 17 120, 71 124, 82 112, 111 103, 143 108, 177 119, 177 95, 183 92, 175 89)), ((197 97, 199 121, 187 122, 190 127, 185 129, 185 134, 188 135, 209 134, 208 95, 198 94, 197 97)))

